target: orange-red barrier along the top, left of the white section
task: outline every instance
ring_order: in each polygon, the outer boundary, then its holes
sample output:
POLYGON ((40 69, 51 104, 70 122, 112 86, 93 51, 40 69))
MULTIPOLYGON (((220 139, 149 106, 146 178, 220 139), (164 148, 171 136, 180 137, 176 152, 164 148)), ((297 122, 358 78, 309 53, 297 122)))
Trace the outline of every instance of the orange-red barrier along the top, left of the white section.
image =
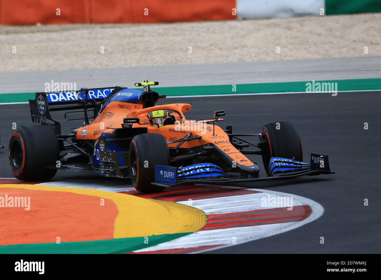
POLYGON ((0 0, 0 24, 216 21, 237 19, 235 7, 235 0, 0 0))

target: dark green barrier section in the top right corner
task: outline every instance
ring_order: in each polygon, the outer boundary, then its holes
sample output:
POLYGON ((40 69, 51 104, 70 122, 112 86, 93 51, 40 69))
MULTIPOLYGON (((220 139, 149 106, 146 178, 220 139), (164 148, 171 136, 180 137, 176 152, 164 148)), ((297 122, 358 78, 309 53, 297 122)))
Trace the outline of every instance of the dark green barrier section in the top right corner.
POLYGON ((325 0, 327 14, 379 13, 379 0, 325 0))

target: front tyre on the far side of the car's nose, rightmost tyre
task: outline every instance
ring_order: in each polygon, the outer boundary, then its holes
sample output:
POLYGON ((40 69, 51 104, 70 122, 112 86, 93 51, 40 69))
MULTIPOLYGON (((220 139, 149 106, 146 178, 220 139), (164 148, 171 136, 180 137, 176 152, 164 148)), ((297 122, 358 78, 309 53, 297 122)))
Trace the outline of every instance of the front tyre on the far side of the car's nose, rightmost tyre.
POLYGON ((303 161, 303 148, 296 126, 291 122, 269 123, 263 127, 262 138, 267 141, 267 147, 262 155, 264 169, 267 175, 272 157, 294 158, 303 161), (278 129, 277 129, 278 128, 278 129))

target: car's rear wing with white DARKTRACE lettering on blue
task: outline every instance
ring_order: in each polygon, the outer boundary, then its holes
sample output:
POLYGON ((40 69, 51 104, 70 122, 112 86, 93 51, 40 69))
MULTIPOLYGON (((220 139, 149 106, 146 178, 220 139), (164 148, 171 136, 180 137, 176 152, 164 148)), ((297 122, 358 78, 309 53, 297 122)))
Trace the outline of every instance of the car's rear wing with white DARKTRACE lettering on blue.
POLYGON ((61 134, 61 124, 52 119, 50 112, 80 109, 85 113, 85 122, 88 122, 88 109, 93 110, 95 117, 97 106, 111 93, 120 91, 123 88, 125 87, 113 86, 107 88, 81 88, 78 91, 37 92, 35 99, 29 99, 32 122, 50 125, 56 134, 61 134), (51 120, 53 124, 46 123, 46 120, 51 120))

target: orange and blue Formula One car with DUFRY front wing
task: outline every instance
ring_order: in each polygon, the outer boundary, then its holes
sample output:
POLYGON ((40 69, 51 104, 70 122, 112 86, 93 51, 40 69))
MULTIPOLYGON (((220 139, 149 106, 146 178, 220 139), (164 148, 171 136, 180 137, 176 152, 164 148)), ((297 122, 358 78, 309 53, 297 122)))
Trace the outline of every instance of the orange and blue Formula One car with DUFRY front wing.
MULTIPOLYGON (((187 120, 189 104, 155 106, 159 98, 144 90, 115 86, 80 91, 36 93, 29 100, 32 121, 20 126, 9 141, 14 176, 22 181, 52 178, 57 170, 88 171, 102 176, 131 178, 141 192, 156 192, 177 184, 247 182, 330 174, 328 156, 311 154, 303 162, 298 130, 291 122, 269 123, 257 134, 234 134, 216 125, 224 110, 212 118, 187 120), (84 124, 62 134, 50 112, 83 112, 84 124), (79 110, 79 111, 78 111, 79 110), (93 111, 93 116, 88 113, 93 111), (92 119, 92 121, 90 121, 92 119), (258 136, 258 144, 242 139, 258 136), (258 150, 244 150, 254 146, 258 150), (245 155, 260 155, 267 177, 245 155), (227 172, 238 173, 234 179, 227 172)), ((79 119, 76 119, 79 120, 79 119)))

